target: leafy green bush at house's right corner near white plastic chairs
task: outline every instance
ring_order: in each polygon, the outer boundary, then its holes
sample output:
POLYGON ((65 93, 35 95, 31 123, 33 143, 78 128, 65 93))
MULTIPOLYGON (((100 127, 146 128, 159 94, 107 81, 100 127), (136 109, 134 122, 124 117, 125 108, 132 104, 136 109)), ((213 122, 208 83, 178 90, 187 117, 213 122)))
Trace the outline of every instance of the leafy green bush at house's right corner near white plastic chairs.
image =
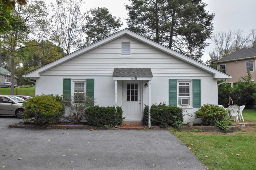
POLYGON ((229 111, 218 105, 204 104, 195 112, 195 117, 202 119, 203 126, 218 126, 223 130, 228 130, 227 127, 233 125, 228 120, 229 111))

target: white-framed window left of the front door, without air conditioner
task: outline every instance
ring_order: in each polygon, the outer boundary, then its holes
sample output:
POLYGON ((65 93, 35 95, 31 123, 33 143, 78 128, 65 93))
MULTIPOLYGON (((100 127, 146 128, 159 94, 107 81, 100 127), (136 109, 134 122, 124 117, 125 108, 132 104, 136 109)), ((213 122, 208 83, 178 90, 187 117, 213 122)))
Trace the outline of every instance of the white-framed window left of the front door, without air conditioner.
POLYGON ((74 103, 77 103, 77 100, 81 100, 82 97, 85 97, 85 82, 73 82, 73 95, 74 95, 74 103))

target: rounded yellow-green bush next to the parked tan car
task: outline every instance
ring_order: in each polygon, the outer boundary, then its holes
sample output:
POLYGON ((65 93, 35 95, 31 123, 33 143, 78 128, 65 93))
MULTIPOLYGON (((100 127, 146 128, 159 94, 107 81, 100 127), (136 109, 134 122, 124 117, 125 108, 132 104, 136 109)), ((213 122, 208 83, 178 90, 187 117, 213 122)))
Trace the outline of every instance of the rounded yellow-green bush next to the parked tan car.
POLYGON ((24 102, 24 119, 35 117, 38 124, 53 124, 59 122, 64 114, 64 107, 61 104, 62 97, 59 95, 37 95, 24 102))

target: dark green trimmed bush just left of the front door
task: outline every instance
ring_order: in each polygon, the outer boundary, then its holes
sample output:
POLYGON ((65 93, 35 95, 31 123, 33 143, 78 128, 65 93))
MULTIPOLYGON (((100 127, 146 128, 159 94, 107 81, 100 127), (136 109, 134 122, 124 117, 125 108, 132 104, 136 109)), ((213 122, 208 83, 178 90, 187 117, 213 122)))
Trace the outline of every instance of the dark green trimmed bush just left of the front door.
POLYGON ((100 107, 95 105, 85 110, 85 120, 88 124, 98 127, 120 125, 125 119, 123 109, 118 106, 117 112, 115 107, 100 107))

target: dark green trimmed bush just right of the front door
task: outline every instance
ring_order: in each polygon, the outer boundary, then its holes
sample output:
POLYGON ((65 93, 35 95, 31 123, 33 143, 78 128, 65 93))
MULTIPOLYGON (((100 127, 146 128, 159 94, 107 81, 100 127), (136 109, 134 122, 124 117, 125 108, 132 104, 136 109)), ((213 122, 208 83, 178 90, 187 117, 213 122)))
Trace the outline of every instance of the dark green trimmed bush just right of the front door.
MULTIPOLYGON (((150 109, 150 121, 152 125, 166 128, 167 126, 174 126, 181 128, 183 124, 183 112, 180 107, 168 106, 166 103, 152 104, 150 109)), ((149 106, 145 105, 143 110, 142 121, 148 125, 149 122, 149 106)))

